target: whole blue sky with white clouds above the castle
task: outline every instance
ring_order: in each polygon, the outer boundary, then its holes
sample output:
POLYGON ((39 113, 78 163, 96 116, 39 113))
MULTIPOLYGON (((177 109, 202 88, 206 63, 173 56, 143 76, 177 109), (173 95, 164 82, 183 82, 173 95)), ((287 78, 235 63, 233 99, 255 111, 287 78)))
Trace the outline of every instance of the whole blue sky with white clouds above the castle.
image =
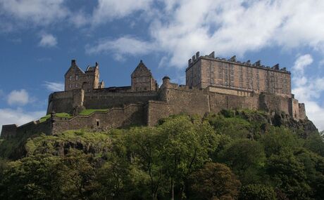
POLYGON ((129 86, 139 60, 161 84, 185 84, 200 51, 287 67, 292 93, 324 130, 323 0, 0 0, 0 126, 46 114, 70 60, 99 62, 107 86, 129 86))

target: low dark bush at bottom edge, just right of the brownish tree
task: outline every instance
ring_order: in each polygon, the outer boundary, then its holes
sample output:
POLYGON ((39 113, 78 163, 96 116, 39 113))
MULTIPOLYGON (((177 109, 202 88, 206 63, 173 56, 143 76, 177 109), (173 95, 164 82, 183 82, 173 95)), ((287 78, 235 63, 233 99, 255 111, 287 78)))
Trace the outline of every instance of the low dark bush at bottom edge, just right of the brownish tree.
POLYGON ((239 194, 240 200, 275 200, 273 187, 261 184, 244 185, 239 194))

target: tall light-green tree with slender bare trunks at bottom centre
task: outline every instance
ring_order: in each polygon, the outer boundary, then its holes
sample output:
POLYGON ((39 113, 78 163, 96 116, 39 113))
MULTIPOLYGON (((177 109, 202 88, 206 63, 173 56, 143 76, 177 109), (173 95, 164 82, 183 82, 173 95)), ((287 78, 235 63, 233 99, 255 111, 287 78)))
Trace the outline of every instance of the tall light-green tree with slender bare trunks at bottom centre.
POLYGON ((176 185, 180 198, 185 198, 189 175, 208 160, 208 152, 214 147, 213 128, 185 115, 170 117, 158 128, 158 149, 163 171, 170 178, 170 197, 174 199, 176 185))

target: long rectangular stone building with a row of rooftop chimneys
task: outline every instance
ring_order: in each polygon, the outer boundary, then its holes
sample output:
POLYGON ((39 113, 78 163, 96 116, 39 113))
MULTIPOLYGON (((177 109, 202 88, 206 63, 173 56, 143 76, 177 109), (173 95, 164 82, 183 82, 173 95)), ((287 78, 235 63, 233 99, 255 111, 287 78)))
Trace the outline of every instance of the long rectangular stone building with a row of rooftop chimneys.
POLYGON ((187 86, 199 88, 215 86, 290 96, 290 83, 290 72, 279 69, 278 64, 266 67, 260 60, 251 64, 250 60, 239 62, 235 56, 229 60, 215 58, 214 53, 200 56, 197 52, 186 69, 187 86))

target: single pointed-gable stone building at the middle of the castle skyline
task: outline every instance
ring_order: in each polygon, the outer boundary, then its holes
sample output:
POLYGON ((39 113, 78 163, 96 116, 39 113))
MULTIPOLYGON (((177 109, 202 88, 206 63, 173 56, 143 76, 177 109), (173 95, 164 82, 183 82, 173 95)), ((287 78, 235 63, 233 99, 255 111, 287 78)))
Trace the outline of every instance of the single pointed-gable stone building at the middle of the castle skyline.
POLYGON ((156 91, 158 89, 156 80, 142 60, 137 65, 134 72, 132 72, 131 78, 132 91, 156 91))

